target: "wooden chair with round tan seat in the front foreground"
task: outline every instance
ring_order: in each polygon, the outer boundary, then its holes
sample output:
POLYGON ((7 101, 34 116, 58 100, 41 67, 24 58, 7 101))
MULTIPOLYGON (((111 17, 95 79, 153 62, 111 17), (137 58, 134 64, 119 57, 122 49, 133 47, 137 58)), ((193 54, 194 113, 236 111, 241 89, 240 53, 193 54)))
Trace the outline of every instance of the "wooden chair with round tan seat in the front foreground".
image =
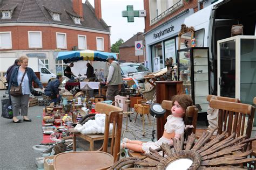
POLYGON ((122 132, 123 110, 113 105, 96 103, 95 110, 106 114, 103 146, 98 151, 65 152, 55 155, 55 169, 98 169, 109 168, 118 160, 122 132), (109 146, 110 123, 113 123, 110 154, 109 146))

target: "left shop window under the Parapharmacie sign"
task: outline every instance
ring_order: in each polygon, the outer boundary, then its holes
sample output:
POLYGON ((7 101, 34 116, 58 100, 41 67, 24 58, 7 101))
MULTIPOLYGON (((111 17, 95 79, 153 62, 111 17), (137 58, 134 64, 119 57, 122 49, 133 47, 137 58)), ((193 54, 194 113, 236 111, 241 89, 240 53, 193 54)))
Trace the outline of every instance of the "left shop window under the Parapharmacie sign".
POLYGON ((165 66, 161 42, 151 46, 151 54, 153 72, 157 72, 158 70, 164 68, 165 66))

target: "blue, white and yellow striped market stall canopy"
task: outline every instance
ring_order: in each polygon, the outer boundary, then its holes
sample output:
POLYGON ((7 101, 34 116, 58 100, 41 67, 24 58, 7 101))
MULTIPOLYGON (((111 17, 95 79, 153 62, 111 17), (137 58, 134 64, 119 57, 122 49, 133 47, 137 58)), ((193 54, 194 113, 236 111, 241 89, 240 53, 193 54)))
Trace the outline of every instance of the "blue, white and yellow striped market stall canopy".
POLYGON ((83 50, 83 51, 65 51, 59 52, 57 60, 63 60, 65 63, 75 62, 79 60, 85 61, 106 61, 107 56, 113 55, 114 59, 117 59, 115 53, 108 53, 102 51, 92 51, 92 50, 83 50))

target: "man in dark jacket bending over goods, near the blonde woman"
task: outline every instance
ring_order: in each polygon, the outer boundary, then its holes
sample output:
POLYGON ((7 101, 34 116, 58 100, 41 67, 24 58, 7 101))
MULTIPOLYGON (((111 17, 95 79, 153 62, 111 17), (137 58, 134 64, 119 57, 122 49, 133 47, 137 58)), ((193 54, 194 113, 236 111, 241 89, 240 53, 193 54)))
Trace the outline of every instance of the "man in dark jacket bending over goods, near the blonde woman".
POLYGON ((46 96, 51 97, 52 99, 51 102, 54 102, 55 104, 60 101, 60 95, 59 95, 60 82, 62 82, 62 75, 57 75, 56 79, 48 82, 47 86, 44 89, 44 94, 46 96))

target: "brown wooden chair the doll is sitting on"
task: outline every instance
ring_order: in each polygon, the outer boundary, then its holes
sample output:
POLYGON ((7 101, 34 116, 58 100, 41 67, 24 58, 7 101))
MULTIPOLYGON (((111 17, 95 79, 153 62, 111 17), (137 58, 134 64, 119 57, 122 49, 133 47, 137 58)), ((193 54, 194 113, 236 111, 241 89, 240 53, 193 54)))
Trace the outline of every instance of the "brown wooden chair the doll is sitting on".
MULTIPOLYGON (((164 100, 161 103, 161 107, 165 110, 170 110, 171 111, 172 101, 164 100)), ((192 129, 192 132, 196 133, 197 116, 198 116, 198 109, 196 108, 196 106, 193 105, 193 106, 187 107, 186 116, 192 118, 192 125, 194 126, 194 128, 192 129)), ((188 134, 184 134, 184 138, 186 138, 187 135, 188 134)), ((131 150, 128 150, 128 154, 129 154, 130 157, 136 157, 136 158, 142 158, 143 157, 142 153, 134 152, 134 151, 131 151, 131 150)), ((147 158, 147 159, 149 159, 149 158, 147 158)), ((150 160, 150 161, 152 161, 152 160, 150 160)))

